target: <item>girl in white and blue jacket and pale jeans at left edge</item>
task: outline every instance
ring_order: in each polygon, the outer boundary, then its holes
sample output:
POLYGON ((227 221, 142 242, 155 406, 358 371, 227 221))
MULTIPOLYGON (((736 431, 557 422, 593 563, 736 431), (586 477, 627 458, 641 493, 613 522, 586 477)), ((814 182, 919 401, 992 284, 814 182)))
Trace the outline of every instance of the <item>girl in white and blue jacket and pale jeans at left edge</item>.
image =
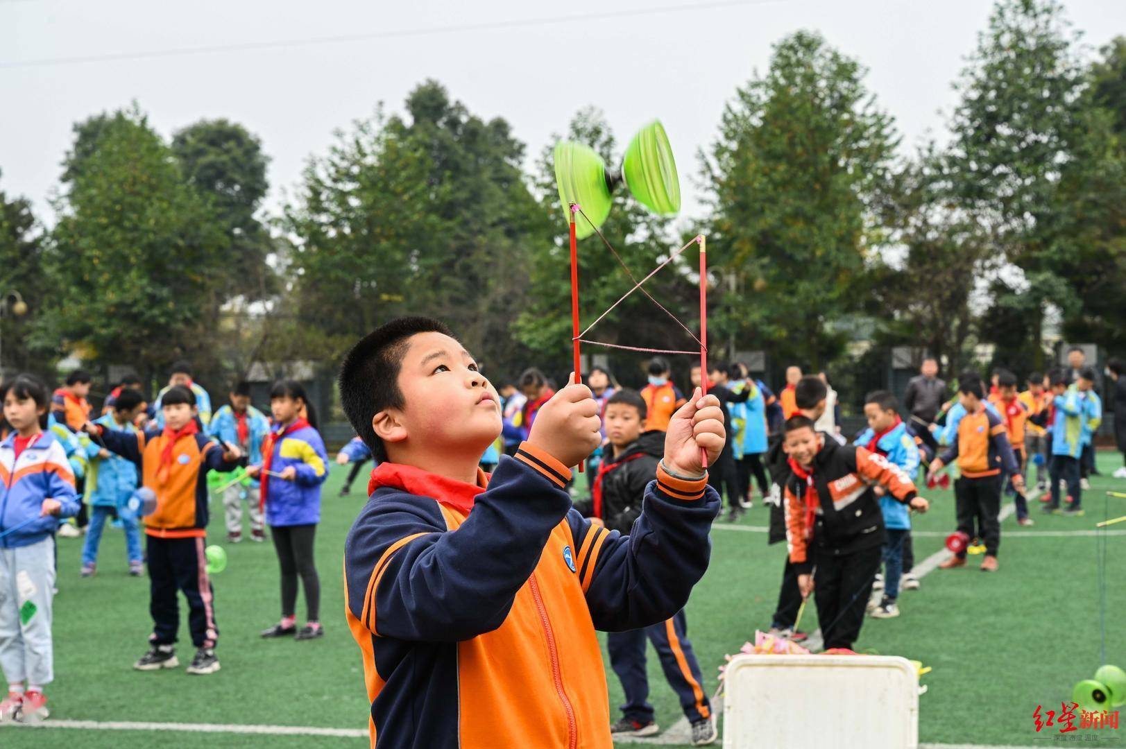
POLYGON ((0 444, 0 670, 8 696, 0 723, 47 716, 54 679, 51 637, 55 529, 78 512, 74 474, 47 422, 51 395, 32 375, 0 390, 11 433, 0 444))

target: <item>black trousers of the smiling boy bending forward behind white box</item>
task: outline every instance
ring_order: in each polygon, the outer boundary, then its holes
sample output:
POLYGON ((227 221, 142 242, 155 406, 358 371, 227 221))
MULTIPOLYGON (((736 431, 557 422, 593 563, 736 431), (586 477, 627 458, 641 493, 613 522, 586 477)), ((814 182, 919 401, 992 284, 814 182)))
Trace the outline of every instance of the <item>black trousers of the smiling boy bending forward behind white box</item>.
POLYGON ((883 553, 883 547, 877 545, 852 554, 814 554, 813 600, 817 605, 825 650, 851 649, 860 636, 864 612, 883 553))

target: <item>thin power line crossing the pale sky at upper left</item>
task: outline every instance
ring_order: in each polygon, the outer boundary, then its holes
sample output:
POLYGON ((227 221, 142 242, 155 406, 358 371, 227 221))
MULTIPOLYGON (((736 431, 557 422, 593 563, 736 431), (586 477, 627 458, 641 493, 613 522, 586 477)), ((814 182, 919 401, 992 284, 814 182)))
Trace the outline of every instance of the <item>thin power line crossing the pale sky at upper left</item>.
MULTIPOLYGON (((6 0, 0 0, 5 2, 6 0)), ((7 0, 12 2, 14 0, 7 0)), ((15 0, 29 1, 29 0, 15 0)), ((340 44, 346 42, 367 42, 370 39, 408 38, 432 36, 438 34, 461 34, 465 32, 494 32, 509 28, 528 28, 551 24, 570 24, 575 21, 608 20, 615 18, 634 18, 638 16, 656 16, 660 14, 688 12, 692 10, 715 10, 721 8, 738 8, 745 6, 767 6, 786 2, 787 0, 717 0, 715 2, 685 3, 679 6, 661 6, 656 8, 636 8, 632 10, 605 10, 590 14, 572 14, 546 18, 527 18, 517 20, 482 21, 477 24, 457 24, 454 26, 430 26, 422 28, 392 29, 386 32, 367 32, 364 34, 341 34, 336 36, 310 36, 294 39, 277 39, 271 42, 241 42, 233 44, 213 44, 198 47, 180 47, 172 50, 149 50, 142 52, 113 52, 105 54, 80 55, 73 57, 42 57, 38 60, 10 60, 0 62, 0 69, 51 68, 61 65, 80 65, 98 62, 119 62, 131 60, 154 60, 160 57, 184 57, 188 55, 214 54, 223 52, 258 52, 265 50, 284 50, 288 47, 305 47, 323 44, 340 44)))

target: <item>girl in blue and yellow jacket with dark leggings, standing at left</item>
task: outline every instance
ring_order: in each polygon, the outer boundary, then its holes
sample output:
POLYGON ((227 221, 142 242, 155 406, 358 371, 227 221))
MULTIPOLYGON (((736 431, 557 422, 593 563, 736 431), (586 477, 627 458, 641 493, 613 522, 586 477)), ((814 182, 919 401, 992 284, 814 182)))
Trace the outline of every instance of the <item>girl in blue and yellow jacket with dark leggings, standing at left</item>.
POLYGON ((321 520, 321 484, 329 475, 329 456, 316 431, 316 416, 301 383, 283 380, 270 390, 275 426, 262 446, 261 465, 247 474, 265 474, 261 502, 282 567, 282 621, 263 637, 295 635, 312 640, 324 634, 320 621, 321 581, 313 561, 313 537, 321 520), (309 418, 302 418, 307 413, 309 418), (297 630, 297 576, 305 589, 305 626, 297 630))

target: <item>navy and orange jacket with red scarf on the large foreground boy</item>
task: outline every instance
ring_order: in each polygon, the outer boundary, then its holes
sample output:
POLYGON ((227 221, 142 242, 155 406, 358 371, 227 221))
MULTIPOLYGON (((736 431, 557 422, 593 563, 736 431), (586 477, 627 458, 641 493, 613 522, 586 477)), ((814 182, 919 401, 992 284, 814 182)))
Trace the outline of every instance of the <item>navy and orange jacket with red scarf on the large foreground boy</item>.
POLYGON ((569 480, 528 443, 479 485, 373 471, 345 547, 373 747, 609 749, 595 631, 685 606, 720 498, 706 480, 659 470, 623 536, 571 507, 569 480))

